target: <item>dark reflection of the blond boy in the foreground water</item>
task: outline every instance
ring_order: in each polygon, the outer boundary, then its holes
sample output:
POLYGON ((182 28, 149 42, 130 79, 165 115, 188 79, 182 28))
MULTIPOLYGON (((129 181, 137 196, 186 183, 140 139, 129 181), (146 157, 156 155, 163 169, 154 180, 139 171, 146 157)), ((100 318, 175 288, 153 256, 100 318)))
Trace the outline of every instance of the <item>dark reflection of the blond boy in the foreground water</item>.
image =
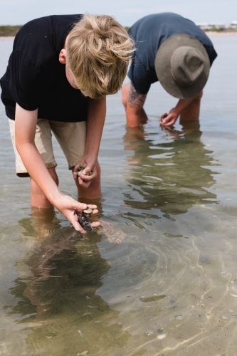
POLYGON ((23 235, 34 237, 16 265, 10 293, 19 302, 7 314, 31 330, 21 355, 111 355, 130 334, 116 323, 119 312, 95 293, 110 269, 98 251, 100 236, 59 222, 53 209, 19 221, 23 235))

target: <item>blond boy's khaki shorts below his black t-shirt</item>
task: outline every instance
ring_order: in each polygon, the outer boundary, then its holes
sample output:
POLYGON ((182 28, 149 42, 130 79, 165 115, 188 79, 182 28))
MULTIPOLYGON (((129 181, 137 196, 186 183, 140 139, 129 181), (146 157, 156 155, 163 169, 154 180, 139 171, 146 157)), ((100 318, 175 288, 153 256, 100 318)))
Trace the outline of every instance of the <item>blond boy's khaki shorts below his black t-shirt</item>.
MULTIPOLYGON (((16 150, 15 121, 9 119, 11 141, 16 155, 16 175, 29 177, 21 157, 16 150)), ((80 162, 85 150, 86 122, 58 122, 38 119, 35 144, 47 168, 57 166, 53 155, 52 132, 68 161, 68 169, 80 162)))

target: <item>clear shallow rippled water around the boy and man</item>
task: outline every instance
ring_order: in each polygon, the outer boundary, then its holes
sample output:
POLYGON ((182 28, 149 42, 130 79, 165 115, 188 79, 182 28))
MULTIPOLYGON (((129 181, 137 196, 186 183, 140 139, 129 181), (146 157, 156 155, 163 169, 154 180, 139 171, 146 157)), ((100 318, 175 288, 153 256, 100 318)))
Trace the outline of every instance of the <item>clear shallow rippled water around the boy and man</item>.
MULTIPOLYGON (((126 130, 120 93, 108 98, 100 234, 33 214, 0 105, 0 355, 236 355, 237 36, 211 40, 200 127, 159 127, 176 100, 158 83, 144 137, 126 130)), ((11 46, 0 41, 0 75, 11 46)))

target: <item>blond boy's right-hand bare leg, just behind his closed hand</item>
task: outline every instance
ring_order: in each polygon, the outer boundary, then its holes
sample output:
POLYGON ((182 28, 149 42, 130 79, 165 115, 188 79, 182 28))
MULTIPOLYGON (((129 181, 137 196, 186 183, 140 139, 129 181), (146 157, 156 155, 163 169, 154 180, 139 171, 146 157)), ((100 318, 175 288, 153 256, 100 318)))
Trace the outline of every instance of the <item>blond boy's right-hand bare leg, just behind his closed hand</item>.
MULTIPOLYGON (((74 169, 74 167, 73 167, 74 169)), ((72 169, 72 172, 73 172, 72 169)), ((96 166, 97 177, 93 179, 88 188, 81 187, 76 181, 76 186, 78 187, 78 197, 85 199, 98 199, 101 197, 101 184, 100 184, 100 164, 97 163, 96 166)))

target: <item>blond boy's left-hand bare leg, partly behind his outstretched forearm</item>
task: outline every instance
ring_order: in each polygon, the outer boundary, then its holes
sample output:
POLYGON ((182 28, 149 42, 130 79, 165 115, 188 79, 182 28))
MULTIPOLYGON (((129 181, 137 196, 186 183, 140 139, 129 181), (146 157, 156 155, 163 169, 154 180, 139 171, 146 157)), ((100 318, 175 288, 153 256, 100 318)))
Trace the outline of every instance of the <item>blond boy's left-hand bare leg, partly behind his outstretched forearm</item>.
MULTIPOLYGON (((56 174, 56 169, 54 167, 48 168, 48 172, 51 174, 54 182, 58 185, 58 175, 56 174)), ((31 206, 37 206, 38 208, 50 208, 53 206, 33 179, 31 179, 31 206)))

